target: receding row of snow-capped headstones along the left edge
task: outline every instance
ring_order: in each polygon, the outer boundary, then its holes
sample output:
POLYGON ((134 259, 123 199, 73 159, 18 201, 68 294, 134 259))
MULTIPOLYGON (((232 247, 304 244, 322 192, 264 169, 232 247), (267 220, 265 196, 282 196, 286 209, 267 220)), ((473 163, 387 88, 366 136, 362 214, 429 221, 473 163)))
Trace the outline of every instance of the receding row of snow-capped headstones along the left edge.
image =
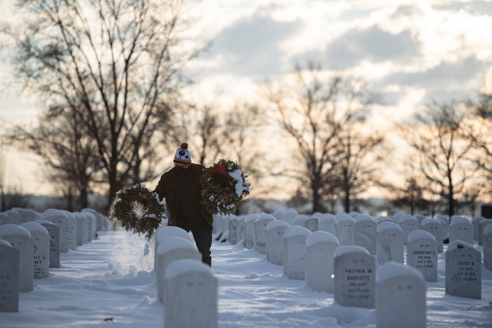
MULTIPOLYGON (((65 252, 68 248, 75 250, 77 219, 70 212, 55 209, 41 215, 24 209, 0 214, 0 312, 17 312, 18 293, 32 291, 33 279, 46 278, 49 268, 60 267, 62 238, 65 252)), ((85 214, 80 217, 83 227, 83 221, 88 219, 85 214)), ((84 240, 80 241, 82 244, 84 240)))

